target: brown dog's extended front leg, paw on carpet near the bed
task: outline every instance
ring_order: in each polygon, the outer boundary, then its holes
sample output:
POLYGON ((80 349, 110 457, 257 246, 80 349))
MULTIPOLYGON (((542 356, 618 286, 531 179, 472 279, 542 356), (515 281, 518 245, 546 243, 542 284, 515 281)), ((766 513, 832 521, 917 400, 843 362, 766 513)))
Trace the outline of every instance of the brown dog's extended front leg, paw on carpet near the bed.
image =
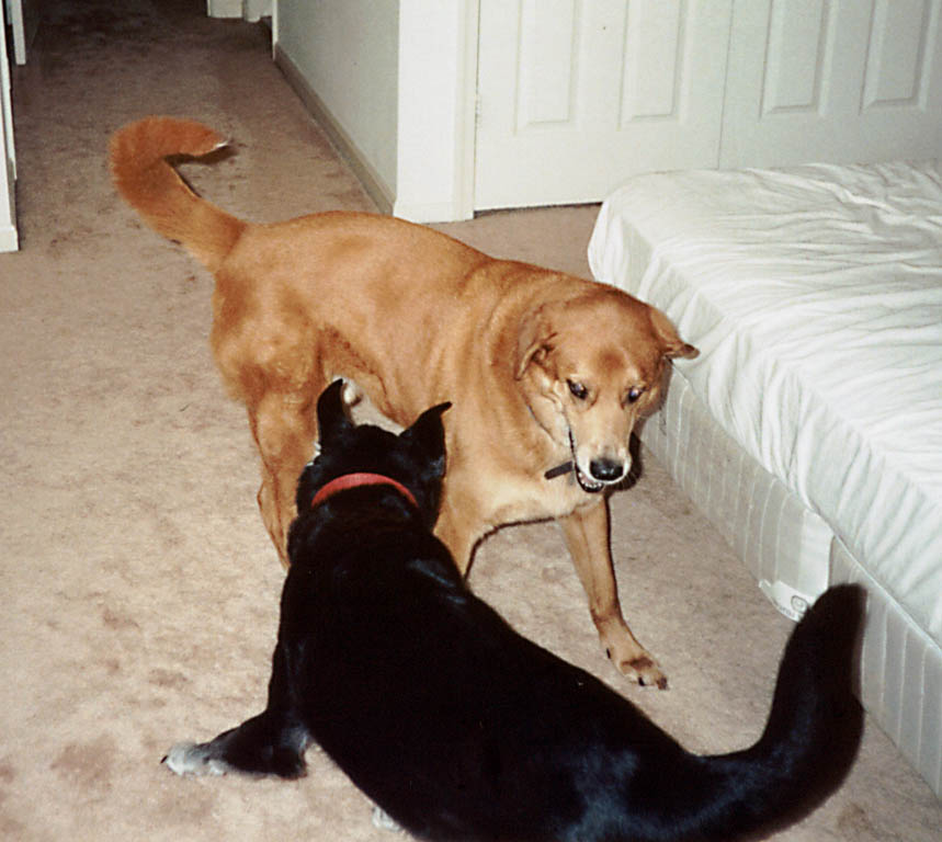
POLYGON ((622 617, 609 548, 609 508, 604 498, 560 517, 559 524, 589 598, 589 611, 605 655, 618 672, 635 679, 638 684, 666 689, 667 678, 622 617))

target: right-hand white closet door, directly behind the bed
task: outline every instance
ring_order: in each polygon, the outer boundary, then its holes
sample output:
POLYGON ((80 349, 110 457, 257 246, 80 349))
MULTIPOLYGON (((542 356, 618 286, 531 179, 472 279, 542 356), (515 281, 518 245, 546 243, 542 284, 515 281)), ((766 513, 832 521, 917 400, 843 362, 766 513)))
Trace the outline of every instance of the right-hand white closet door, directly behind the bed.
POLYGON ((940 0, 736 4, 722 167, 942 152, 940 0))

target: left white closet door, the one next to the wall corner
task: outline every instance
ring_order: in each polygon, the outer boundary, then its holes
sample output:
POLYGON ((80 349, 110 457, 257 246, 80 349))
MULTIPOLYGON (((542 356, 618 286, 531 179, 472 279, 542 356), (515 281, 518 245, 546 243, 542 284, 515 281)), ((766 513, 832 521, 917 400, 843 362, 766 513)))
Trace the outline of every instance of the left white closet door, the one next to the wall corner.
POLYGON ((716 166, 731 0, 481 0, 475 207, 716 166))

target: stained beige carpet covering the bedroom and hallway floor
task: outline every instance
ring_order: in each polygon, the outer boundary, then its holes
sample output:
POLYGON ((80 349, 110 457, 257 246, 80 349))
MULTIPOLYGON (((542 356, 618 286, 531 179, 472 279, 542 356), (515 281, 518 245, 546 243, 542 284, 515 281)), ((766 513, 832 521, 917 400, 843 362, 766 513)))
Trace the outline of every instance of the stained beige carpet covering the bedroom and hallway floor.
MULTIPOLYGON (((120 203, 106 143, 147 113, 195 116, 238 155, 189 174, 237 214, 370 201, 271 64, 262 27, 209 21, 203 0, 43 7, 13 73, 22 251, 0 255, 0 838, 396 839, 317 750, 294 783, 181 780, 160 765, 174 740, 261 709, 282 571, 242 410, 209 359, 211 278, 120 203)), ((594 212, 445 228, 586 274, 594 212)), ((612 500, 614 554, 626 615, 670 691, 629 686, 601 658, 554 525, 492 537, 472 583, 688 746, 744 746, 790 623, 663 471, 644 467, 612 500)), ((870 726, 843 787, 775 837, 940 838, 940 804, 870 726)))

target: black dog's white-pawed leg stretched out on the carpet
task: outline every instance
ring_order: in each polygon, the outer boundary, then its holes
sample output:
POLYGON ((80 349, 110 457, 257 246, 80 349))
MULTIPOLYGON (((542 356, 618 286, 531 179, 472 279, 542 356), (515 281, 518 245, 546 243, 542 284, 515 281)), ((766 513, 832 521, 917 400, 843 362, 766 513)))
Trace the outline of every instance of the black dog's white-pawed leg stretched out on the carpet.
POLYGON ((304 752, 310 737, 291 713, 286 652, 281 645, 275 648, 273 668, 269 706, 263 713, 209 742, 179 742, 163 762, 178 775, 304 775, 304 752))

